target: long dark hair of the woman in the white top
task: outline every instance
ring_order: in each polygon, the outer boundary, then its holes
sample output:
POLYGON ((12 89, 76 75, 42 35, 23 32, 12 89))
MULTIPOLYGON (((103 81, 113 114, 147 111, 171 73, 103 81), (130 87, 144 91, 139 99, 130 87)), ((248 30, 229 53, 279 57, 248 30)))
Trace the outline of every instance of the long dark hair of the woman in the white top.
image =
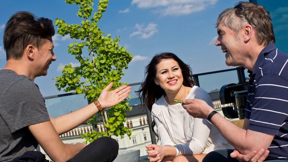
MULTIPOLYGON (((179 64, 179 67, 182 70, 184 86, 192 87, 195 85, 195 82, 192 79, 192 70, 189 65, 185 64, 181 59, 179 59, 173 53, 165 52, 165 53, 156 54, 152 58, 151 62, 146 66, 145 80, 141 84, 140 89, 136 91, 136 93, 138 94, 141 100, 141 103, 145 104, 150 111, 152 110, 152 105, 155 103, 155 101, 165 94, 165 91, 159 85, 156 85, 154 82, 154 79, 156 77, 156 71, 157 71, 156 66, 163 59, 173 59, 179 64)), ((154 126, 155 126, 155 121, 153 121, 151 127, 152 127, 152 131, 158 137, 158 134, 153 129, 154 126)))

